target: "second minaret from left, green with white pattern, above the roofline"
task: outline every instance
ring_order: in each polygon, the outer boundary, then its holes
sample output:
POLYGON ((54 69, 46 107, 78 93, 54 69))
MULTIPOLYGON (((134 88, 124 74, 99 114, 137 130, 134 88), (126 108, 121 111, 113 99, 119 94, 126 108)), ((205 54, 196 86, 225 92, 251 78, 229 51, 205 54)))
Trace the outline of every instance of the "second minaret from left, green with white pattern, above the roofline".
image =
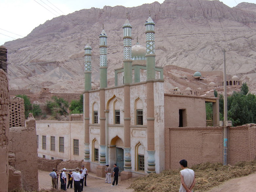
POLYGON ((99 46, 99 60, 100 60, 100 65, 99 65, 99 80, 100 80, 100 88, 105 88, 108 86, 107 83, 107 34, 104 31, 104 25, 103 25, 103 30, 99 35, 100 39, 100 46, 99 46))

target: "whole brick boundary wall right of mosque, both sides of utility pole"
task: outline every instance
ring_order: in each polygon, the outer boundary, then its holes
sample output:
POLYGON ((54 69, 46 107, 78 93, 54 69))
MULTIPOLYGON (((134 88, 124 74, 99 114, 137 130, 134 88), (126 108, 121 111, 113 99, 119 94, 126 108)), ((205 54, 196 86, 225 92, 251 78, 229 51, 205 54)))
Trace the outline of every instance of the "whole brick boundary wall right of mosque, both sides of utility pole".
MULTIPOLYGON (((256 158, 256 124, 230 127, 228 164, 256 158)), ((223 127, 165 127, 165 169, 179 168, 181 159, 188 165, 223 162, 223 127)))

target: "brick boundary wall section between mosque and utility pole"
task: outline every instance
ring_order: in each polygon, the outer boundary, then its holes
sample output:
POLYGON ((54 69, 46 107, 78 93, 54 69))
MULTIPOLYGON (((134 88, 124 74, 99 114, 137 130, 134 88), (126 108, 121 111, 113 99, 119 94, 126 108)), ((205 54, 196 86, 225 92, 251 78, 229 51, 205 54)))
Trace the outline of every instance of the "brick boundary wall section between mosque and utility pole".
POLYGON ((188 161, 188 166, 222 162, 222 146, 221 127, 165 128, 165 169, 179 168, 182 159, 188 161))

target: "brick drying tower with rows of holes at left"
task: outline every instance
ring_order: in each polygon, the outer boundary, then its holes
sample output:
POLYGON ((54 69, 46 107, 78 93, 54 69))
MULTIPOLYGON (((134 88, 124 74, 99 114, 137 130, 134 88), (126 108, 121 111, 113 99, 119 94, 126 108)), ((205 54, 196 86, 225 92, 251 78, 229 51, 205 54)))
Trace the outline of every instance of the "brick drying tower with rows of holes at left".
POLYGON ((10 98, 10 127, 25 126, 24 99, 20 97, 10 98))

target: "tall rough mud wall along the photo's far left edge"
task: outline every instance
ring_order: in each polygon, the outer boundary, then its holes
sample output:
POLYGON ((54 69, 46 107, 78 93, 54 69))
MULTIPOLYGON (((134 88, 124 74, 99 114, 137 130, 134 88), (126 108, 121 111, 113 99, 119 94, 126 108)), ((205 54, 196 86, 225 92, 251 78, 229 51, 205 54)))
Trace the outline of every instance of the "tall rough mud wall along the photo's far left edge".
POLYGON ((7 75, 0 69, 0 191, 8 190, 9 89, 7 75))

